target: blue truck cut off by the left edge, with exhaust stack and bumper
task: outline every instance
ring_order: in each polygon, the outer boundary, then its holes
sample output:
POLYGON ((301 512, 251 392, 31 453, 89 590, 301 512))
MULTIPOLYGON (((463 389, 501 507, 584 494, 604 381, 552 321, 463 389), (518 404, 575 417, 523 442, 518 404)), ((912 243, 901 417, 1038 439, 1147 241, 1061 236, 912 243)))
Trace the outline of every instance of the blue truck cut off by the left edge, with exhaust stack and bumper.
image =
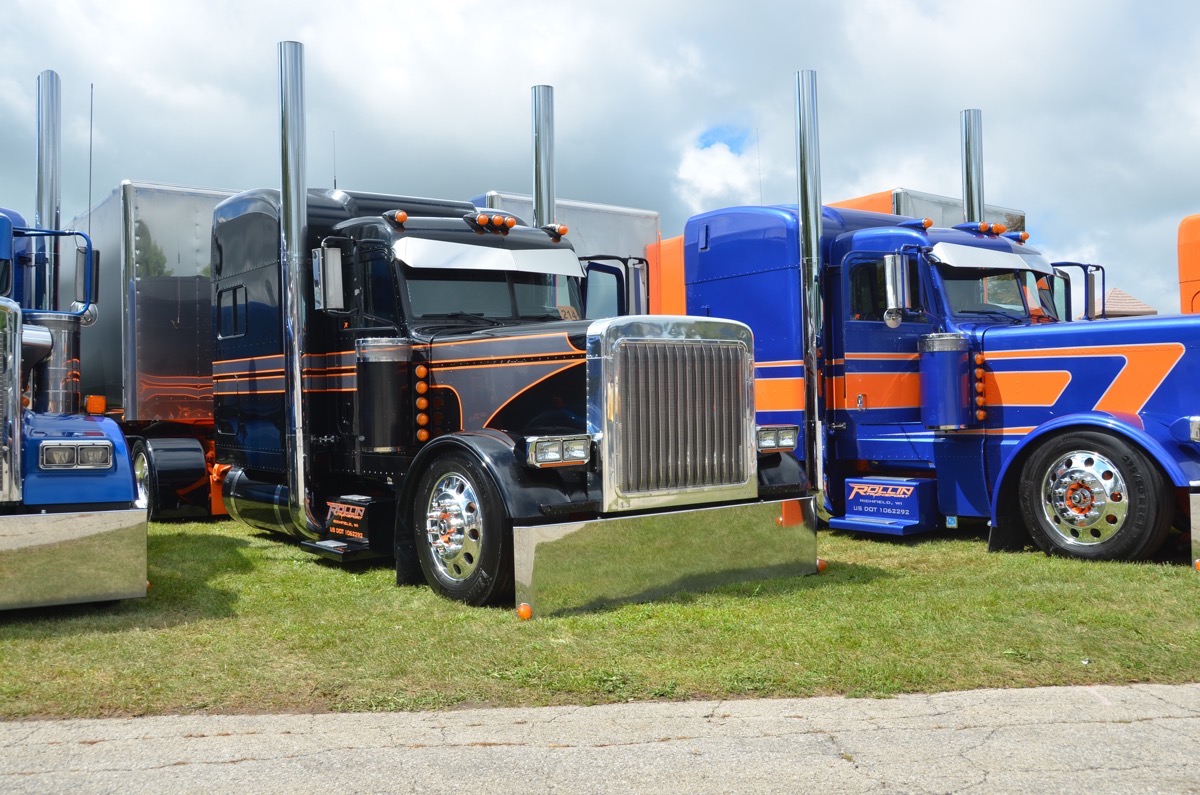
POLYGON ((118 425, 80 399, 91 240, 58 221, 58 74, 38 78, 38 220, 0 209, 0 609, 144 597, 146 513, 118 425), (64 244, 80 276, 56 306, 64 244), (76 251, 77 250, 77 251, 76 251))

